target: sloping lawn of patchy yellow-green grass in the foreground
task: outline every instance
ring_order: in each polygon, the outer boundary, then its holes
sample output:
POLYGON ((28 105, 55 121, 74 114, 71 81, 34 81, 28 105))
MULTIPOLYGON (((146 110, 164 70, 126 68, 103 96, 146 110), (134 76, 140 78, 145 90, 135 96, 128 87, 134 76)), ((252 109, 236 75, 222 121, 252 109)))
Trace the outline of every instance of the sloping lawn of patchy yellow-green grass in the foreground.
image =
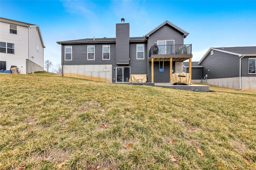
POLYGON ((256 169, 256 92, 0 74, 0 169, 256 169))

